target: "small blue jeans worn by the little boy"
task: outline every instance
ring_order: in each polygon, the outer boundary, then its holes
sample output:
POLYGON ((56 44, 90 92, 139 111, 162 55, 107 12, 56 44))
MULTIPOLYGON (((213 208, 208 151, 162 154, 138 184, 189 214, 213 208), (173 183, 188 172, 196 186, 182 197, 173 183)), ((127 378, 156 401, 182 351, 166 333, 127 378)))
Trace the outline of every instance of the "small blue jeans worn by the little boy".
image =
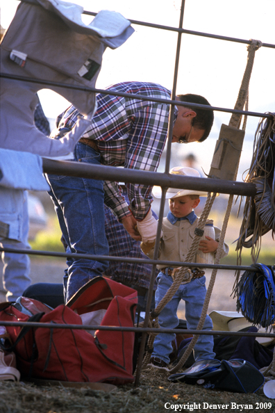
MULTIPOLYGON (((158 286, 156 289, 156 306, 165 296, 173 280, 171 275, 159 273, 157 277, 158 286)), ((206 298, 206 277, 196 278, 188 284, 181 284, 178 291, 173 296, 158 316, 160 327, 174 328, 178 325, 178 316, 176 311, 181 300, 185 301, 185 318, 188 329, 196 330, 201 316, 204 299, 206 298)), ((203 325, 203 330, 212 330, 213 323, 209 316, 203 325)), ((176 334, 158 334, 153 343, 152 357, 159 357, 165 363, 169 364, 169 355, 172 353, 172 341, 176 334)), ((213 359, 213 336, 201 335, 194 346, 194 359, 196 362, 201 359, 213 359)))

